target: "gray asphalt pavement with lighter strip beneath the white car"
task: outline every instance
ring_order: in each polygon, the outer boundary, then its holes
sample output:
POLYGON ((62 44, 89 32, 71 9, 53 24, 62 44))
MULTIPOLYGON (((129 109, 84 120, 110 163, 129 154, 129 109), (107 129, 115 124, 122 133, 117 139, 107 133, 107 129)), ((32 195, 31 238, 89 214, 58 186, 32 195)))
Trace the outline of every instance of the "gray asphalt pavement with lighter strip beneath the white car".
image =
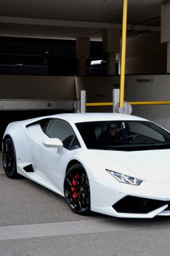
POLYGON ((1 152, 0 195, 0 256, 170 256, 170 217, 74 214, 52 191, 7 178, 1 152))

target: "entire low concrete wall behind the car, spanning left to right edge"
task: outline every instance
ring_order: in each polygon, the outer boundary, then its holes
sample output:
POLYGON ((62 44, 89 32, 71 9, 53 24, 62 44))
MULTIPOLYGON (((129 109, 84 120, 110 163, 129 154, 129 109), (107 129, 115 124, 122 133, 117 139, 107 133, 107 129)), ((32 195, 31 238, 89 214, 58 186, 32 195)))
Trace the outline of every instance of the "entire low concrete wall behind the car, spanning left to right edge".
MULTIPOLYGON (((112 102, 120 76, 0 76, 1 99, 75 100, 86 90, 86 102, 112 102)), ((170 101, 170 74, 126 75, 124 100, 170 101), (137 81, 150 79, 148 81, 137 81)), ((170 118, 170 105, 132 106, 133 115, 147 119, 170 118)), ((88 106, 87 112, 112 112, 112 106, 88 106)))

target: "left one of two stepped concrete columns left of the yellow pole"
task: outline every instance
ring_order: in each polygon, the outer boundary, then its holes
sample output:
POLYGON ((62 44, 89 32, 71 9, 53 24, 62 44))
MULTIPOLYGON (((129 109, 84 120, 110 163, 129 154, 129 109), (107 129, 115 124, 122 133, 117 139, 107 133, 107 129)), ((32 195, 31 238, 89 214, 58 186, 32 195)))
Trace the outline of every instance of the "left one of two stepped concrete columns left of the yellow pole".
POLYGON ((86 75, 86 58, 90 55, 90 38, 76 38, 76 57, 79 59, 79 74, 86 75))

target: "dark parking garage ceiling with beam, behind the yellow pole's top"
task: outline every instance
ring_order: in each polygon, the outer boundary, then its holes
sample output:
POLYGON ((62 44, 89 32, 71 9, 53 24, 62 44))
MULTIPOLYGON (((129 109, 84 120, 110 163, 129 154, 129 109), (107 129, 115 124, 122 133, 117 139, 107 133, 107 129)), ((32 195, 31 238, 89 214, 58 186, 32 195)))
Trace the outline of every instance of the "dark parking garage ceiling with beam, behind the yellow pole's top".
MULTIPOLYGON (((160 31, 162 0, 129 0, 128 35, 160 31)), ((122 0, 1 0, 0 36, 102 40, 122 28, 122 0)))

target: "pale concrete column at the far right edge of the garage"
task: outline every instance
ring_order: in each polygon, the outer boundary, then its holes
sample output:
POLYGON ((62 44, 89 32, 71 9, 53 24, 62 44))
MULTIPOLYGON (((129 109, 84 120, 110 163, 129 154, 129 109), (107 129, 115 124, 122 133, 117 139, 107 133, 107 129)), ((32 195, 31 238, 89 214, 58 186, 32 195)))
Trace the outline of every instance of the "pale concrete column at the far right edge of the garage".
POLYGON ((170 73, 170 1, 161 5, 161 42, 167 42, 167 73, 170 73))

